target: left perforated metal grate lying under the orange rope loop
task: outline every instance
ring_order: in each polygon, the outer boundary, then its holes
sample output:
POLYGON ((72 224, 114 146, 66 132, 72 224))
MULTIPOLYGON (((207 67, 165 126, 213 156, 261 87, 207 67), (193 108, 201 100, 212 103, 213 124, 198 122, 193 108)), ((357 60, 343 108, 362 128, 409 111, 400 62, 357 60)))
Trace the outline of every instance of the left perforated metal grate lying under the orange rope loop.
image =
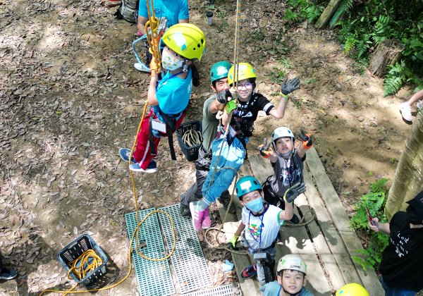
MULTIPOLYGON (((147 216, 149 212, 154 210, 155 209, 152 208, 138 211, 140 221, 142 221, 142 218, 147 216)), ((125 221, 129 239, 131 239, 137 227, 136 213, 133 212, 125 214, 125 221)), ((140 241, 144 240, 147 244, 147 246, 142 249, 145 256, 157 259, 164 257, 165 247, 159 228, 157 214, 152 214, 144 223, 142 223, 139 239, 140 241)), ((134 252, 132 256, 140 295, 164 296, 175 294, 175 287, 173 286, 168 261, 149 261, 143 259, 137 252, 135 252, 135 240, 136 238, 133 241, 132 247, 134 252)))

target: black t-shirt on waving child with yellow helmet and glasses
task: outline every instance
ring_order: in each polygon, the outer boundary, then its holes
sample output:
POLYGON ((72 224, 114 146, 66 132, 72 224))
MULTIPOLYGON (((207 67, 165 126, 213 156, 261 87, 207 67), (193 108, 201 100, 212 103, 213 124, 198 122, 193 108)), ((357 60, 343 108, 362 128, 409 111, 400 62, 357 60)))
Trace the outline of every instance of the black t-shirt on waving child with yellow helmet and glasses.
POLYGON ((269 115, 272 108, 274 108, 274 104, 264 95, 254 93, 248 101, 238 101, 238 106, 232 113, 231 126, 238 135, 251 137, 259 111, 264 111, 266 115, 269 115))

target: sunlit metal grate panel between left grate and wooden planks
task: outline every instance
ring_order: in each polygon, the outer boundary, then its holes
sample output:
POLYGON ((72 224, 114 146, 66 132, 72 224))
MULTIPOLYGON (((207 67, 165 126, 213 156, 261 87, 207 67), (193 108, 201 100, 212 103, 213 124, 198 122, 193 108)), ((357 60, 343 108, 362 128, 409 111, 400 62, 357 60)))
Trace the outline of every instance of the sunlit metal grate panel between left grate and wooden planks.
MULTIPOLYGON (((198 240, 197 233, 192 226, 191 219, 180 216, 179 204, 160 208, 168 212, 177 230, 176 249, 171 256, 173 268, 180 287, 180 292, 186 293, 212 285, 209 268, 198 240)), ((163 228, 166 244, 171 249, 173 243, 171 223, 168 217, 159 213, 161 228, 163 228)))

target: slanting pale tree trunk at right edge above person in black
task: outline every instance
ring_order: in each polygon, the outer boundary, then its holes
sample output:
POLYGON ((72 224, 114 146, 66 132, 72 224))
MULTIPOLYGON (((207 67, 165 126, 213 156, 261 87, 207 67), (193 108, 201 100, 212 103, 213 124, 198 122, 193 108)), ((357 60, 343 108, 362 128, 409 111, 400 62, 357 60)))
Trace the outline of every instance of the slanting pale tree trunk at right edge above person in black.
POLYGON ((389 190, 385 214, 389 219, 397 211, 407 207, 408 200, 423 190, 423 116, 417 114, 412 123, 403 153, 395 171, 393 184, 389 190))

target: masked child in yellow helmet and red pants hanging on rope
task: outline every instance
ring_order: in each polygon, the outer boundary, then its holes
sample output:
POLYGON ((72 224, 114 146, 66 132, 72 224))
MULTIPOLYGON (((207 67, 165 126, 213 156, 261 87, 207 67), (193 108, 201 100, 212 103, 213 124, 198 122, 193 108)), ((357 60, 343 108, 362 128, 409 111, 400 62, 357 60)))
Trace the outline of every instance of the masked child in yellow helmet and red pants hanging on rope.
MULTIPOLYGON (((202 30, 192 24, 173 25, 164 33, 162 41, 166 46, 161 55, 161 66, 166 74, 158 80, 157 69, 152 68, 155 63, 150 65, 152 75, 147 102, 152 108, 142 121, 137 135, 131 171, 157 171, 153 157, 157 155, 161 137, 166 135, 172 159, 176 159, 172 134, 183 120, 183 111, 188 106, 192 85, 200 84, 193 62, 201 59, 206 46, 202 30)), ((130 149, 121 148, 119 155, 124 161, 129 161, 130 149)))

